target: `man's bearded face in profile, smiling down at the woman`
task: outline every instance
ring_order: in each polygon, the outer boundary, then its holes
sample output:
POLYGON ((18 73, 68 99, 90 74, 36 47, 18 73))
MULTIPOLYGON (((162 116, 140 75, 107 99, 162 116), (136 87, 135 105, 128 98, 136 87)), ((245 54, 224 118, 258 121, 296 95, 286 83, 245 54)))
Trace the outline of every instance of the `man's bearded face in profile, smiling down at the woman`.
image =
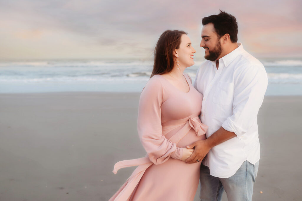
POLYGON ((210 61, 215 61, 220 56, 222 49, 220 38, 214 29, 214 24, 209 23, 202 27, 200 47, 205 50, 204 58, 210 61))

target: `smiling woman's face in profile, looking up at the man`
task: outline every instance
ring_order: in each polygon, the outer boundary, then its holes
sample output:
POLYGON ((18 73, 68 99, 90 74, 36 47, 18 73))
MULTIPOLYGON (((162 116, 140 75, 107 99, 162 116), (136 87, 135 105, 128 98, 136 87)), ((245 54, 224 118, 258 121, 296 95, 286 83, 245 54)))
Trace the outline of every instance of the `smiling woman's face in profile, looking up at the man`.
POLYGON ((182 67, 189 67, 194 65, 193 54, 195 49, 192 47, 191 40, 186 34, 182 34, 180 38, 180 45, 178 49, 175 49, 176 61, 182 67))

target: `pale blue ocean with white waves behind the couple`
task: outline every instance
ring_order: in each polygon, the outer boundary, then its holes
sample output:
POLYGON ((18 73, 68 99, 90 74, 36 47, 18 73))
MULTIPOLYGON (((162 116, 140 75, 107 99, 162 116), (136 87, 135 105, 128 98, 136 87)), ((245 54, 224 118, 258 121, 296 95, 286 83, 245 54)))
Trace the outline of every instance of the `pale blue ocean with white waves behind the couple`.
MULTIPOLYGON (((268 74, 266 96, 302 95, 302 59, 259 60, 268 74)), ((192 80, 201 63, 185 70, 192 80)), ((140 92, 152 67, 142 60, 0 61, 0 93, 140 92)))

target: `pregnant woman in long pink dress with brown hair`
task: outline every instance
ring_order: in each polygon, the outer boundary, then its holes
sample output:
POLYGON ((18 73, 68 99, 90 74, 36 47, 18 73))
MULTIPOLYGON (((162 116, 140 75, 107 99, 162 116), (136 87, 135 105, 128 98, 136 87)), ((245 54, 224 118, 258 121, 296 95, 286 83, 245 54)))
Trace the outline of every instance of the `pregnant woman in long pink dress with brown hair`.
POLYGON ((190 201, 194 199, 200 161, 187 164, 193 149, 186 146, 204 140, 203 96, 183 74, 194 65, 190 38, 184 31, 165 31, 155 48, 151 78, 140 96, 137 129, 147 155, 120 161, 123 167, 138 166, 109 201, 190 201))

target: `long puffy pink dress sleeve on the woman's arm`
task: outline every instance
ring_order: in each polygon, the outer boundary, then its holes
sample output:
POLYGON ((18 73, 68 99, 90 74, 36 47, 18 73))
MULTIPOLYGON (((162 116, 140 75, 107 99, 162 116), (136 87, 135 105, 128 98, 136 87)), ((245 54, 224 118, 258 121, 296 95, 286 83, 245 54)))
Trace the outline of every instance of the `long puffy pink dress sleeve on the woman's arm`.
POLYGON ((154 164, 161 164, 169 157, 182 158, 182 149, 162 135, 162 102, 162 83, 156 77, 152 77, 140 95, 137 131, 149 159, 154 164))

